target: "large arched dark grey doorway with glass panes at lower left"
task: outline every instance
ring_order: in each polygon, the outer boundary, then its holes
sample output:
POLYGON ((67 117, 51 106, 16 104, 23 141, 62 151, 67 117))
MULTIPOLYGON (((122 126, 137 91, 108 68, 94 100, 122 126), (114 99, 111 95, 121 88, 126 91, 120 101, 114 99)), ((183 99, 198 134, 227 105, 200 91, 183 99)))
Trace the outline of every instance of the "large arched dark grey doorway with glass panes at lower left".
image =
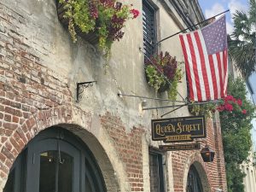
POLYGON ((90 149, 61 128, 42 131, 15 160, 3 192, 106 192, 90 149))

